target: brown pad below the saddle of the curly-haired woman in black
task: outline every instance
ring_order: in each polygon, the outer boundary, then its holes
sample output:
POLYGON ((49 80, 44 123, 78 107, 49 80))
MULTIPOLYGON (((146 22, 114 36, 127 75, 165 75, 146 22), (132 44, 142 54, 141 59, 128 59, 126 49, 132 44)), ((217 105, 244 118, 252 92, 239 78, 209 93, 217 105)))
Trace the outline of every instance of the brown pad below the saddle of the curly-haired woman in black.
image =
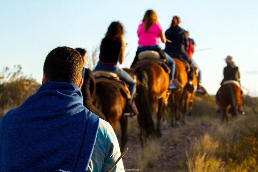
POLYGON ((127 99, 131 99, 131 94, 128 87, 121 80, 112 80, 104 77, 96 78, 96 84, 101 82, 112 84, 113 86, 122 90, 125 93, 127 99))

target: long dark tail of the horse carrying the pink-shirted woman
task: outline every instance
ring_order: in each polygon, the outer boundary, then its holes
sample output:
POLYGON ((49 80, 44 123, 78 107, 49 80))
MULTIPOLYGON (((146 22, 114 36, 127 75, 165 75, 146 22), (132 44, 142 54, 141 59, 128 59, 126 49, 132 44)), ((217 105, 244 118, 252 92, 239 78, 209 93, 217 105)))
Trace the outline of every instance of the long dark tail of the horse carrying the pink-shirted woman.
POLYGON ((137 86, 137 96, 135 103, 138 107, 138 123, 140 125, 140 140, 142 146, 145 144, 146 138, 155 136, 155 127, 152 121, 151 106, 148 98, 148 75, 141 70, 137 74, 140 84, 137 86))

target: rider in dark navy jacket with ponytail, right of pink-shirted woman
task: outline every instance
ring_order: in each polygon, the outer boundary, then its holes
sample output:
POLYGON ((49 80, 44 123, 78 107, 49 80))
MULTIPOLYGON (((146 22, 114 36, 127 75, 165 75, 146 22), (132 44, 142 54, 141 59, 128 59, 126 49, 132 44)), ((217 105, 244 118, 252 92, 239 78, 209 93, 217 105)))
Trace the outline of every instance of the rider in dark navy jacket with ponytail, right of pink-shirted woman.
POLYGON ((173 58, 179 58, 185 60, 190 64, 190 72, 188 73, 188 83, 192 85, 194 67, 192 61, 187 54, 188 49, 188 37, 185 30, 180 26, 180 18, 173 16, 172 23, 169 29, 166 30, 166 47, 164 51, 173 58))

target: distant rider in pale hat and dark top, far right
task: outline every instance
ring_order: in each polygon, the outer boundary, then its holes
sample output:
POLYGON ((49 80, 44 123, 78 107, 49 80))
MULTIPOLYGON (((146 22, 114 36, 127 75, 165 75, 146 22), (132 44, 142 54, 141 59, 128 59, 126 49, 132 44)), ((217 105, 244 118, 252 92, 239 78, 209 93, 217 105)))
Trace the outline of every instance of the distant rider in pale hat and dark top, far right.
MULTIPOLYGON (((240 85, 240 80, 239 80, 240 79, 240 71, 239 71, 238 66, 235 65, 235 62, 233 61, 233 57, 228 55, 227 58, 225 59, 225 61, 226 61, 227 66, 223 70, 224 78, 221 82, 221 85, 225 81, 228 81, 228 80, 237 81, 237 82, 239 82, 239 85, 240 85)), ((241 90, 241 92, 242 92, 242 90, 241 90)), ((243 94, 242 94, 242 97, 243 97, 243 94)), ((218 104, 216 112, 219 113, 221 110, 220 100, 219 100, 219 91, 216 93, 216 102, 218 104)), ((241 114, 245 114, 243 106, 239 107, 239 112, 241 114)))

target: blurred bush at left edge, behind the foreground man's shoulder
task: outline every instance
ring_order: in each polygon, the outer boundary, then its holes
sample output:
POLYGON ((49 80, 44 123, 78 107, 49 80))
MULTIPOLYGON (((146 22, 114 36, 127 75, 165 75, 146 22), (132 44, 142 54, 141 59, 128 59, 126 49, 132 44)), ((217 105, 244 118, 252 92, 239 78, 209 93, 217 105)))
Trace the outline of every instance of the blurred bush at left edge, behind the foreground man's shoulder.
POLYGON ((5 67, 0 73, 0 118, 8 109, 21 105, 39 87, 35 79, 23 75, 20 65, 12 70, 5 67))

